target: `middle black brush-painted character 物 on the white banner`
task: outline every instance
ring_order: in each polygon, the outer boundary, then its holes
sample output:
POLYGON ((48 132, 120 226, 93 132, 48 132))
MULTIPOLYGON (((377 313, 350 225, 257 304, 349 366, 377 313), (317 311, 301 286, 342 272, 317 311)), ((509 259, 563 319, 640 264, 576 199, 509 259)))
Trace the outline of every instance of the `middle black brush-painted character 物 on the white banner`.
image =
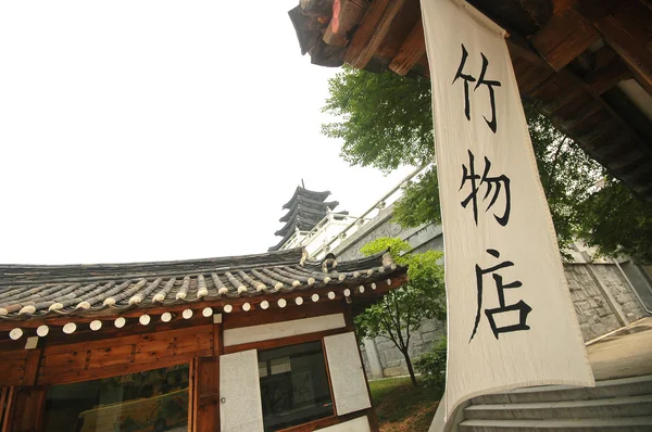
POLYGON ((488 212, 489 208, 491 208, 493 206, 493 204, 496 204, 496 201, 498 200, 501 192, 504 192, 504 195, 505 195, 505 207, 504 208, 505 209, 504 209, 502 216, 498 216, 498 215, 493 214, 493 217, 496 218, 496 220, 501 226, 504 227, 510 221, 510 213, 512 211, 512 194, 510 191, 510 178, 507 176, 505 176, 504 174, 497 176, 497 177, 490 177, 489 170, 491 169, 491 162, 487 157, 485 157, 485 170, 482 171, 482 176, 480 177, 480 175, 476 174, 476 171, 475 171, 474 154, 471 152, 471 150, 467 150, 467 152, 468 152, 468 167, 466 167, 466 165, 462 164, 462 185, 460 186, 459 191, 462 190, 462 188, 464 188, 464 185, 466 185, 466 181, 469 181, 471 182, 471 193, 468 194, 468 196, 466 196, 464 199, 464 201, 461 202, 461 204, 464 208, 466 208, 468 203, 469 202, 472 203, 473 218, 474 218, 476 225, 478 225, 478 196, 477 195, 480 190, 480 187, 486 186, 486 192, 485 192, 485 196, 482 198, 482 201, 487 200, 489 194, 493 191, 491 201, 489 201, 489 205, 487 205, 487 208, 485 209, 485 212, 488 212))

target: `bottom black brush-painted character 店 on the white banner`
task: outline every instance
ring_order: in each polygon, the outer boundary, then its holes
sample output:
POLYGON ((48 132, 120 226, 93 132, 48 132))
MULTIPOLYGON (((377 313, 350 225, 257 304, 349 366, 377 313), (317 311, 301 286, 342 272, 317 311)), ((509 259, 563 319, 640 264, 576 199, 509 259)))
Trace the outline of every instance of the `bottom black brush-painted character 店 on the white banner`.
MULTIPOLYGON (((500 257, 500 253, 493 249, 488 249, 487 253, 496 258, 500 257)), ((523 285, 523 283, 521 283, 519 280, 515 280, 514 282, 503 284, 502 276, 494 272, 497 270, 500 270, 501 268, 512 267, 513 265, 514 265, 514 263, 512 263, 511 261, 505 261, 503 263, 497 264, 493 267, 484 269, 484 268, 480 268, 480 266, 478 266, 476 264, 475 269, 476 269, 476 284, 477 284, 477 290, 478 290, 478 309, 476 313, 473 332, 471 333, 471 339, 468 340, 468 342, 471 342, 473 340, 473 338, 475 336, 476 331, 478 329, 478 325, 480 323, 480 313, 482 309, 482 288, 484 288, 482 282, 484 282, 485 275, 488 275, 488 274, 492 274, 491 276, 493 277, 493 281, 496 282, 496 289, 498 291, 498 303, 500 305, 499 307, 496 307, 493 309, 485 309, 485 315, 487 316, 487 319, 489 320, 489 326, 491 327, 491 331, 493 332, 493 335, 496 336, 496 339, 498 339, 500 333, 511 333, 513 331, 529 330, 530 327, 526 323, 526 321, 527 321, 527 315, 532 310, 532 308, 527 303, 525 303, 523 300, 521 300, 518 303, 515 303, 512 305, 505 305, 505 292, 504 291, 509 290, 509 289, 513 289, 513 288, 519 288, 523 285), (514 310, 518 312, 518 323, 498 327, 498 325, 496 323, 494 316, 497 316, 499 314, 503 314, 503 313, 511 313, 514 310)))

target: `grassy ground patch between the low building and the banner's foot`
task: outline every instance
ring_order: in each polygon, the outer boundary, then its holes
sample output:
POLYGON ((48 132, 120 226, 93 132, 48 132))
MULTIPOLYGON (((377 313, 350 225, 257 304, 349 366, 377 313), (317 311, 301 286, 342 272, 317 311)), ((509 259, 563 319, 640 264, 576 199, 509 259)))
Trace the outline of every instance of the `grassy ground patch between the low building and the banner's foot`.
POLYGON ((441 394, 410 378, 391 378, 369 382, 372 401, 384 432, 427 432, 441 394))

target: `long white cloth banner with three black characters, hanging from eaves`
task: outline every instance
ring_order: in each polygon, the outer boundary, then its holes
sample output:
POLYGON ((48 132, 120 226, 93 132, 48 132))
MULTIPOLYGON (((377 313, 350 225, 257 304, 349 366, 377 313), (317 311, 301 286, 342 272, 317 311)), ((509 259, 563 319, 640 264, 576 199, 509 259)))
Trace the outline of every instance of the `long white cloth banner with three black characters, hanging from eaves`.
POLYGON ((448 295, 447 417, 473 396, 594 385, 505 33, 422 0, 448 295))

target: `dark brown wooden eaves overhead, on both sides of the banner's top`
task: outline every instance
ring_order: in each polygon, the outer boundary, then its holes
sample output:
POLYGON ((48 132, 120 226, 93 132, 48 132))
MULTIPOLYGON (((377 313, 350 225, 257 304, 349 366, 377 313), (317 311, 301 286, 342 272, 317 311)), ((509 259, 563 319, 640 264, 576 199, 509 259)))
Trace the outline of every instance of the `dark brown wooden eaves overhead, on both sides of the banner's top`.
MULTIPOLYGON (((522 97, 652 201, 652 3, 469 3, 509 31, 522 97)), ((314 64, 428 76, 418 0, 301 0, 289 15, 314 64)))

